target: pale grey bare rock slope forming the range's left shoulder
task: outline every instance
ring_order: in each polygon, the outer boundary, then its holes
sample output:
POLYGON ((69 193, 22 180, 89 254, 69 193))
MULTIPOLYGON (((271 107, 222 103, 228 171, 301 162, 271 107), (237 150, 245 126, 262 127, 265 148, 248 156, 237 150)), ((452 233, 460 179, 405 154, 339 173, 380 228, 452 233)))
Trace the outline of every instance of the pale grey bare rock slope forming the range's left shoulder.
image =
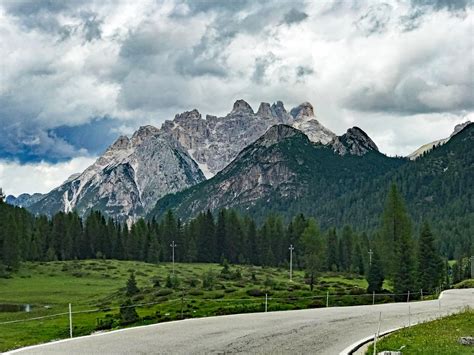
POLYGON ((121 221, 133 221, 156 201, 204 180, 197 164, 178 142, 152 126, 140 127, 129 139, 121 136, 79 176, 29 207, 54 214, 95 209, 121 221))

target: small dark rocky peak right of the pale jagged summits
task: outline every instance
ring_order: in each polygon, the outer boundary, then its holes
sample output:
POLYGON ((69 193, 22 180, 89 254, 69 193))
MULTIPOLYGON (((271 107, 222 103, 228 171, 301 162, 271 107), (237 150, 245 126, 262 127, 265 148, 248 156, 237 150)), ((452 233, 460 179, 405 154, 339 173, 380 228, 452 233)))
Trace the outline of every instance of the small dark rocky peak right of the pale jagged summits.
POLYGON ((372 139, 359 127, 352 127, 332 142, 334 151, 340 155, 352 154, 362 156, 369 151, 379 151, 372 139))

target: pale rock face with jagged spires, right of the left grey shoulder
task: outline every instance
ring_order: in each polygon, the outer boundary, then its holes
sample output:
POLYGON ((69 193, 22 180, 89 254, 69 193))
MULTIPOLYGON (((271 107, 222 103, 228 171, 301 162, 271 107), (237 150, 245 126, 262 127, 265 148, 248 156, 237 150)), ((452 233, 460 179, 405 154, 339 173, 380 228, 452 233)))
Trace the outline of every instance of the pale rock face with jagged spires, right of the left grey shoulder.
POLYGON ((268 128, 281 123, 303 131, 313 142, 327 144, 336 137, 317 121, 308 102, 295 107, 290 114, 281 101, 272 105, 262 102, 255 113, 247 102, 237 100, 224 117, 207 115, 204 119, 192 110, 166 121, 161 129, 175 137, 210 178, 268 128))

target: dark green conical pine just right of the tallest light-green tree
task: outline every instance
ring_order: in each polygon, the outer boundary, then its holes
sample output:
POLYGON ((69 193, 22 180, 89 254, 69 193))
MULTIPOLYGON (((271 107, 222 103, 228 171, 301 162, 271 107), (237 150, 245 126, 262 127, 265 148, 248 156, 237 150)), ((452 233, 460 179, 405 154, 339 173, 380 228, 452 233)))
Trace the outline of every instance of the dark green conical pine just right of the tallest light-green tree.
POLYGON ((427 222, 418 239, 418 283, 425 292, 433 291, 442 282, 443 260, 439 256, 434 236, 427 222))

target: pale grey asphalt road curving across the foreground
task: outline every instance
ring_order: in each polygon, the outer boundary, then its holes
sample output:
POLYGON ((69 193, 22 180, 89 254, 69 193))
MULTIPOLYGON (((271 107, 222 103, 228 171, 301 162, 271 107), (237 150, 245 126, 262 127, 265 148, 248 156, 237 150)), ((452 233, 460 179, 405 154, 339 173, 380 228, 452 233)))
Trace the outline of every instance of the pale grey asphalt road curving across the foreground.
POLYGON ((188 319, 16 350, 21 354, 339 354, 377 331, 474 307, 474 289, 435 301, 188 319), (440 308, 441 305, 441 308, 440 308))

